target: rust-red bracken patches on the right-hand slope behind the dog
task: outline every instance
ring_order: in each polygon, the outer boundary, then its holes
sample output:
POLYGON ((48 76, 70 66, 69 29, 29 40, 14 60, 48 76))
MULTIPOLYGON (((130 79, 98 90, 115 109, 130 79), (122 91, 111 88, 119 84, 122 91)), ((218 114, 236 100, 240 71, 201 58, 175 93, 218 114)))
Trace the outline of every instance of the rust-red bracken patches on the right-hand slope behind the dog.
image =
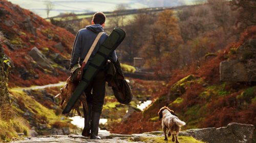
MULTIPOLYGON (((191 64, 187 69, 173 71, 172 78, 170 79, 167 88, 162 90, 164 92, 158 93, 158 97, 166 96, 170 87, 180 79, 187 75, 193 74, 196 78, 202 78, 204 82, 209 85, 221 85, 219 75, 220 62, 225 60, 230 48, 239 47, 245 41, 250 39, 256 39, 256 26, 253 26, 242 33, 240 41, 237 43, 231 43, 223 51, 221 51, 215 58, 208 59, 206 61, 201 60, 200 65, 198 63, 191 64)), ((229 57, 230 58, 230 57, 229 57)), ((205 89, 199 83, 191 83, 186 87, 186 92, 181 95, 183 99, 182 104, 173 105, 171 108, 177 113, 183 115, 183 120, 189 120, 191 116, 194 116, 195 120, 199 118, 204 119, 203 122, 199 122, 199 127, 222 127, 226 126, 230 122, 253 124, 256 125, 256 103, 241 105, 237 95, 240 95, 243 90, 248 88, 248 85, 241 85, 239 83, 229 83, 224 89, 230 91, 232 94, 219 97, 214 95, 210 97, 209 101, 200 99, 199 94, 205 89), (207 103, 207 104, 206 104, 207 103), (184 115, 184 113, 191 107, 199 105, 199 115, 184 115), (206 107, 202 108, 201 107, 206 107), (195 117, 198 116, 198 117, 195 117)), ((158 110, 168 105, 169 102, 166 99, 156 100, 159 102, 157 105, 149 107, 148 110, 142 113, 135 112, 132 116, 121 123, 116 123, 113 128, 110 129, 113 133, 132 134, 142 133, 158 130, 161 128, 160 122, 150 122, 149 119, 152 115, 157 115, 158 110), (132 125, 132 126, 131 126, 132 125)), ((198 112, 198 111, 196 111, 198 112)))

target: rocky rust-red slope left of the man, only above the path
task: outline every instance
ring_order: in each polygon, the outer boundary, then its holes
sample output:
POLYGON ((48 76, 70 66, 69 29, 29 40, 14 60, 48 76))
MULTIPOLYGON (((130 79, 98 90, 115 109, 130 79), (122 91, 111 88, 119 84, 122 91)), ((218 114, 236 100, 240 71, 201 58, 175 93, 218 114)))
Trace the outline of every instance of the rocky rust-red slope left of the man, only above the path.
POLYGON ((5 53, 15 66, 9 87, 66 80, 74 35, 6 0, 0 2, 0 19, 0 31, 8 39, 5 53), (40 51, 29 54, 33 47, 40 51))

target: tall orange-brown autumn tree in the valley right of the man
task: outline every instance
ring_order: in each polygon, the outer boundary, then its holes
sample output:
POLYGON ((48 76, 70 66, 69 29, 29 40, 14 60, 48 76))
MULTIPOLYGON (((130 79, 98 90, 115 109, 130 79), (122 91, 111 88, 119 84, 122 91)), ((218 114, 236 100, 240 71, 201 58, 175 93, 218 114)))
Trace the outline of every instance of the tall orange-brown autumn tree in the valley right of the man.
POLYGON ((176 49, 182 43, 177 22, 178 19, 172 10, 159 13, 156 22, 150 28, 149 39, 141 49, 146 66, 158 74, 172 70, 174 61, 177 61, 174 59, 179 58, 172 56, 174 52, 179 55, 176 49))

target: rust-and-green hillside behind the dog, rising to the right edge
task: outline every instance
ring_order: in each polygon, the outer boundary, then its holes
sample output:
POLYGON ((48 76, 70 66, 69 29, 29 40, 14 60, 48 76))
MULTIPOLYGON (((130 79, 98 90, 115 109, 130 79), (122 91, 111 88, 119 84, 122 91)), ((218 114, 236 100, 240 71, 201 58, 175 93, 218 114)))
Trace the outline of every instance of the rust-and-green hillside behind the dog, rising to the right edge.
MULTIPOLYGON (((131 134, 161 129, 157 112, 165 105, 186 122, 183 129, 221 127, 230 122, 256 125, 255 82, 220 81, 219 68, 222 61, 241 59, 237 51, 246 43, 255 48, 255 35, 254 26, 241 35, 239 42, 220 50, 216 57, 176 70, 165 90, 157 93, 159 98, 143 112, 135 112, 129 119, 115 124, 111 132, 131 134)), ((248 53, 243 56, 255 58, 248 53)))

